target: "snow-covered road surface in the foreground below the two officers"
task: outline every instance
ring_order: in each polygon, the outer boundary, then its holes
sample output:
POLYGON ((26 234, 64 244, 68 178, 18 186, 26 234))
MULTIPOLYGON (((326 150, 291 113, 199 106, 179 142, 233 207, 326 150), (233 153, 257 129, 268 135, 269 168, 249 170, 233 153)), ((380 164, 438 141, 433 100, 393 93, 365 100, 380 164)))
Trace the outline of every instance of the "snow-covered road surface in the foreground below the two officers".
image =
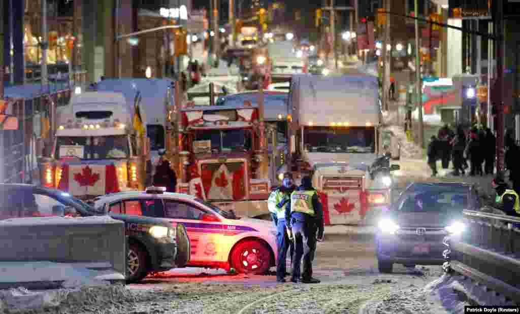
POLYGON ((31 313, 447 312, 435 294, 423 291, 442 274, 440 266, 396 266, 394 273, 383 275, 374 253, 371 240, 329 235, 318 244, 314 276, 320 284, 278 284, 275 276, 186 268, 126 288, 84 287, 59 308, 31 313))

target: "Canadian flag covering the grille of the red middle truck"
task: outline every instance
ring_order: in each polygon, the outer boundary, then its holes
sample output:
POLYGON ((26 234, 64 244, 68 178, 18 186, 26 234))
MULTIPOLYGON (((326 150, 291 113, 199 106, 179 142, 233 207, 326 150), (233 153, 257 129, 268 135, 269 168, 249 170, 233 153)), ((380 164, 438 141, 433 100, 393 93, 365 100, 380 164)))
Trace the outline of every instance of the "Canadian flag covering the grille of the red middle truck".
POLYGON ((245 162, 203 163, 202 186, 211 201, 238 201, 245 199, 247 190, 245 162))

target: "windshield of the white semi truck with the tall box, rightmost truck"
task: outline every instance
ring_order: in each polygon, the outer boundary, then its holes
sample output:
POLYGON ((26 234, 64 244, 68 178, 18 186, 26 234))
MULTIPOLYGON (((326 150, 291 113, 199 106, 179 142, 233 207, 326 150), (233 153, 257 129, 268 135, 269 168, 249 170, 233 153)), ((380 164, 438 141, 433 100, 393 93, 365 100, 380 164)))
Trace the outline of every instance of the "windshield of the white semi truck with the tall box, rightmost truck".
POLYGON ((309 152, 373 153, 375 130, 374 127, 305 127, 303 141, 309 152))

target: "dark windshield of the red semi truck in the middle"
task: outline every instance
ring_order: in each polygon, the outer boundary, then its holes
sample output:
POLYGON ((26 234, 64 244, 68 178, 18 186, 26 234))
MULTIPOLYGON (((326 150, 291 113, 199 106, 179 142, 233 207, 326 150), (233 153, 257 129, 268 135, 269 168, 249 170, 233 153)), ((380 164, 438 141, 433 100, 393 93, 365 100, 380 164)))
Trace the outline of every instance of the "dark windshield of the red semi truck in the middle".
POLYGON ((251 131, 245 129, 199 130, 195 141, 211 141, 212 151, 251 149, 251 131))

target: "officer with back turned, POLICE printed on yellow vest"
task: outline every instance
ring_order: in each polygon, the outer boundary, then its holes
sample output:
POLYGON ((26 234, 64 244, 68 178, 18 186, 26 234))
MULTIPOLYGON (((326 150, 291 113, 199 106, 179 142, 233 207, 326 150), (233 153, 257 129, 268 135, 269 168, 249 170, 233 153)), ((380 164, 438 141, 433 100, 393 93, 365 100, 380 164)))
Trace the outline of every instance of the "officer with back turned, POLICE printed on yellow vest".
POLYGON ((316 241, 323 241, 323 211, 318 193, 309 176, 302 178, 302 185, 291 193, 290 205, 285 207, 285 224, 294 238, 292 282, 300 281, 300 261, 303 257, 303 283, 319 283, 313 278, 313 259, 316 241), (316 234, 316 232, 318 234, 316 234))

